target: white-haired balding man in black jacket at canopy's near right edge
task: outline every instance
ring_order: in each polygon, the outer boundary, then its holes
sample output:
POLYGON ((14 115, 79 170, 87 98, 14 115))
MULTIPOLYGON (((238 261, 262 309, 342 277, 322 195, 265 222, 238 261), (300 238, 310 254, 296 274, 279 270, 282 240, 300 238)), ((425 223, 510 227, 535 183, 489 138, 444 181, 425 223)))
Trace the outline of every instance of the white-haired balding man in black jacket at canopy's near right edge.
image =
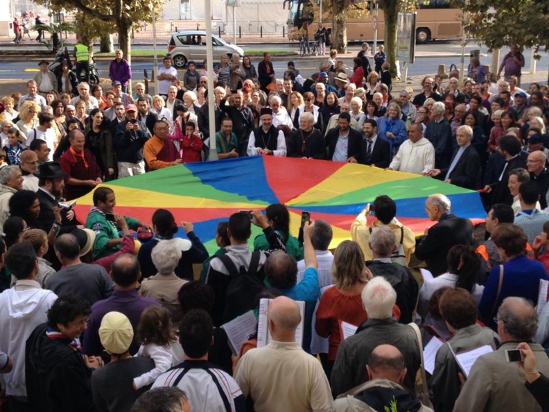
POLYGON ((473 223, 452 214, 450 207, 450 199, 442 194, 431 195, 425 202, 430 220, 438 223, 428 228, 425 236, 419 239, 415 255, 426 262, 433 276, 448 271, 446 257, 452 246, 473 244, 473 223))

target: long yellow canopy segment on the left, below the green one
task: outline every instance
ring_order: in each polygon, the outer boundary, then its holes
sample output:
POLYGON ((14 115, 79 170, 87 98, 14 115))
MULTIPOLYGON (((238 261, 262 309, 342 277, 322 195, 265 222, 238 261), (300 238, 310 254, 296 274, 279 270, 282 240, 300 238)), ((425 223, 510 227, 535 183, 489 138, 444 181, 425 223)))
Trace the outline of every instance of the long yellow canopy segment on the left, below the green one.
MULTIPOLYGON (((258 209, 259 205, 254 203, 232 203, 221 200, 204 198, 193 198, 191 196, 179 196, 163 194, 157 191, 134 189, 133 187, 116 186, 112 187, 116 195, 116 205, 125 207, 156 207, 156 208, 180 208, 180 207, 209 207, 209 208, 232 208, 232 209, 258 209)), ((93 192, 78 199, 78 205, 93 205, 93 192)))

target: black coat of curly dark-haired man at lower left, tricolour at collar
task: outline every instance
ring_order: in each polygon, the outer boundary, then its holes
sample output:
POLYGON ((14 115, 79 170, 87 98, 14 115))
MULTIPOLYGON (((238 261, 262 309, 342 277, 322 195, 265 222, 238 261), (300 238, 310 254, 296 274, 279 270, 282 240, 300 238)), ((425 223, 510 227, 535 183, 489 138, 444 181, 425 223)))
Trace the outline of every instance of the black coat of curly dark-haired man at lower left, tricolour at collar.
MULTIPOLYGON (((46 336, 46 323, 30 334, 25 347, 28 404, 31 411, 94 412, 92 388, 82 353, 46 336)), ((22 344, 22 342, 21 342, 22 344)))

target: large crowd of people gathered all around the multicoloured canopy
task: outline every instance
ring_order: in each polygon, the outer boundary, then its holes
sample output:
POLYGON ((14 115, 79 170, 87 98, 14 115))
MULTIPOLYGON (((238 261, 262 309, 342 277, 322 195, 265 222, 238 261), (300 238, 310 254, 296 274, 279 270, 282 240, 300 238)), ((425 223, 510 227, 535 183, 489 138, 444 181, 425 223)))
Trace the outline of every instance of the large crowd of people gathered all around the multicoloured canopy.
POLYGON ((105 94, 44 60, 24 96, 2 98, 1 411, 548 410, 548 86, 521 89, 516 47, 505 80, 473 58, 462 83, 428 76, 418 94, 394 91, 383 49, 379 73, 367 44, 352 73, 329 54, 308 78, 293 62, 275 74, 268 53, 256 67, 223 55, 211 74, 166 57, 155 96, 128 94, 122 53, 105 94), (313 213, 293 234, 279 204, 227 216, 212 255, 168 209, 116 211, 109 182, 206 161, 213 138, 220 159, 478 190, 485 236, 432 194, 416 238, 382 187, 335 250, 329 223, 313 213), (235 347, 227 323, 261 318, 263 298, 269 342, 258 325, 235 347))

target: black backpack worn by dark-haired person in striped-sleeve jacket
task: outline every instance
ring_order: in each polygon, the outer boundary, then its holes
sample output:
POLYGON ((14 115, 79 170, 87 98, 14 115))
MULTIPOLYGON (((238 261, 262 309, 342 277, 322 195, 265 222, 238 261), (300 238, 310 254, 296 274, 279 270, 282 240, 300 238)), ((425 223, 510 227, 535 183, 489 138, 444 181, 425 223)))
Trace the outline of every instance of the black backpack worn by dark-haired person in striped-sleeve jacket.
POLYGON ((237 269, 234 261, 227 255, 218 256, 231 277, 225 294, 223 323, 255 309, 258 293, 266 289, 263 285, 263 268, 259 268, 260 258, 261 251, 252 252, 250 266, 246 271, 244 266, 237 269))

